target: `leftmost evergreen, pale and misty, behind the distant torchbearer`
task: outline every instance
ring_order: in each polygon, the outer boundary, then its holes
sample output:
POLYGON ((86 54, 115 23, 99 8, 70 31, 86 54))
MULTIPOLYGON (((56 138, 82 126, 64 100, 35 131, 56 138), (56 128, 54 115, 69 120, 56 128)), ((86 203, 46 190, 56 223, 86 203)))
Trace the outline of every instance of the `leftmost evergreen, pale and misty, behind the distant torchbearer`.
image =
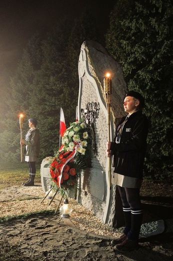
MULTIPOLYGON (((41 63, 41 61, 38 61, 40 57, 37 60, 38 55, 35 54, 39 50, 39 46, 40 38, 35 35, 23 52, 15 76, 11 77, 9 93, 6 94, 8 98, 5 100, 7 109, 3 120, 4 132, 1 131, 0 135, 0 160, 3 161, 20 160, 19 114, 24 112, 25 118, 28 117, 30 86, 33 84, 34 70, 38 67, 38 62, 41 63), (29 53, 28 50, 31 50, 31 52, 29 53)), ((28 125, 24 122, 23 134, 27 129, 28 125)))

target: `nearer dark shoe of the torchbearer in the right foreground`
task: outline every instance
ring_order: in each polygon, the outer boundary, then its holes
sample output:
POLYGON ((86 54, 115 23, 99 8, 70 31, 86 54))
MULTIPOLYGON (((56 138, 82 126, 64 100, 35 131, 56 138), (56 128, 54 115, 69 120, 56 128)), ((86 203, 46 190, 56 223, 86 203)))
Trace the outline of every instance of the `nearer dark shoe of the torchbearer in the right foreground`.
POLYGON ((126 237, 123 242, 114 246, 114 250, 123 253, 126 251, 137 250, 139 247, 140 246, 137 241, 130 240, 126 237))

